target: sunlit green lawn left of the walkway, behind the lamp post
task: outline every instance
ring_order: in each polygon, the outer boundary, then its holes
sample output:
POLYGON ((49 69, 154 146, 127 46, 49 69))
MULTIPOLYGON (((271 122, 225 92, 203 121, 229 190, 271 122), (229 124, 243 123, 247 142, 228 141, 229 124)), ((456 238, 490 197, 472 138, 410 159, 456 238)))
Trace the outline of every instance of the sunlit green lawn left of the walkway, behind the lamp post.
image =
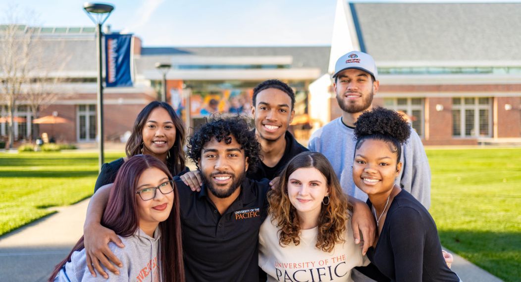
POLYGON ((0 235, 90 197, 97 173, 95 153, 0 153, 0 235))

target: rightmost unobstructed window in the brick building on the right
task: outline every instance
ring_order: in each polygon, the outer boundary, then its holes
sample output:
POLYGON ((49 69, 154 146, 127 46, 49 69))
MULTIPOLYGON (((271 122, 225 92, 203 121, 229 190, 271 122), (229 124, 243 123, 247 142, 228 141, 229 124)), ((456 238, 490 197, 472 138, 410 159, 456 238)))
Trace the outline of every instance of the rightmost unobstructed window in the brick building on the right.
POLYGON ((452 98, 452 135, 454 137, 492 136, 492 106, 489 97, 452 98))

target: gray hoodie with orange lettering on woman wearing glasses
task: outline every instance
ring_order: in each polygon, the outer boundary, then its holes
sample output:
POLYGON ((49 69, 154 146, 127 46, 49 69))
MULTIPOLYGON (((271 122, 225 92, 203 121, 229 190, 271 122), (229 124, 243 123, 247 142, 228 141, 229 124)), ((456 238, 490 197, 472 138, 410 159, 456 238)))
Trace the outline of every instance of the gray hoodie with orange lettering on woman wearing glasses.
POLYGON ((115 243, 108 244, 111 251, 121 261, 123 267, 120 275, 106 270, 108 279, 101 275, 92 277, 86 265, 85 249, 72 253, 71 261, 61 268, 54 281, 161 281, 159 269, 159 227, 154 232, 154 238, 138 229, 130 237, 119 237, 125 248, 119 248, 115 243))

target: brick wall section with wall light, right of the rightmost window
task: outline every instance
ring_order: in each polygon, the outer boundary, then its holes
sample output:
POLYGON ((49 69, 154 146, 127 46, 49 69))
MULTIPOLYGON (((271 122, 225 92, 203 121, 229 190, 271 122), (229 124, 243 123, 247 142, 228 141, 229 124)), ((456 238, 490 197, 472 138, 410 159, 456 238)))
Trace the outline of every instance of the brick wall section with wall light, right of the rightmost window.
POLYGON ((498 137, 521 137, 521 98, 498 97, 498 137), (505 110, 510 104, 512 109, 505 110))

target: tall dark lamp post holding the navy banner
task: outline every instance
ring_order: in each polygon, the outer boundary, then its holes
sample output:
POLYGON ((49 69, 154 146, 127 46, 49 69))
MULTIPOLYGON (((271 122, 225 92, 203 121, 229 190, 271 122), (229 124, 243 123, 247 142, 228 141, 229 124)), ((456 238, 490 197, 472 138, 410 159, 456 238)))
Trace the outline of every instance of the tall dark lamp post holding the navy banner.
POLYGON ((101 28, 103 23, 108 19, 110 13, 114 10, 114 6, 109 4, 101 3, 85 3, 83 4, 83 10, 85 10, 87 16, 96 24, 96 55, 97 55, 97 135, 100 145, 100 156, 98 156, 99 170, 104 162, 103 156, 103 84, 102 84, 102 32, 101 28))

